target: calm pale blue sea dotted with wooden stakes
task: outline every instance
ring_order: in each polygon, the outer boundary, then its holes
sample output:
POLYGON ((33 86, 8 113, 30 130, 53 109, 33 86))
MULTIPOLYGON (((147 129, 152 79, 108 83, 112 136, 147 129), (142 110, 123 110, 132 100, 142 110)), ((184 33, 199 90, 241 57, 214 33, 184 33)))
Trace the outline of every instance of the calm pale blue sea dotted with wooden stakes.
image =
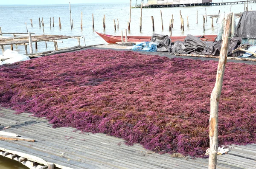
MULTIPOLYGON (((127 0, 128 1, 128 0, 127 0)), ((218 0, 222 2, 222 0, 218 0)), ((228 0, 230 1, 230 0, 228 0)), ((128 1, 129 2, 129 1, 128 1)), ((216 2, 216 1, 215 1, 216 2)), ((226 1, 227 2, 227 1, 226 1)), ((134 5, 134 4, 133 4, 134 5)), ((230 6, 193 6, 185 8, 143 8, 143 22, 142 32, 139 29, 140 23, 140 8, 132 8, 131 10, 131 31, 128 31, 128 35, 133 36, 151 36, 152 22, 151 16, 154 16, 155 33, 158 34, 170 34, 169 21, 174 15, 174 28, 172 30, 172 36, 183 36, 187 34, 201 35, 201 34, 216 34, 216 19, 214 19, 214 28, 211 27, 211 19, 208 18, 208 22, 205 25, 206 31, 203 31, 203 17, 205 14, 205 8, 207 8, 207 14, 218 14, 218 11, 222 12, 230 11, 230 6), (163 14, 163 26, 162 31, 160 10, 163 14), (180 30, 180 10, 184 18, 184 31, 180 30), (198 24, 196 24, 196 14, 198 11, 198 24), (187 19, 189 16, 189 27, 187 27, 187 19)), ((249 9, 256 8, 255 3, 249 4, 249 9)), ((232 5, 232 11, 235 13, 242 12, 244 5, 232 5)), ((127 22, 129 21, 129 3, 98 3, 98 4, 71 4, 72 18, 73 18, 73 30, 70 28, 70 11, 69 4, 63 5, 41 5, 41 6, 0 6, 0 26, 2 32, 26 32, 26 25, 29 32, 35 34, 43 34, 43 28, 39 28, 38 18, 44 18, 44 32, 45 34, 56 35, 70 35, 70 36, 84 36, 86 45, 95 45, 105 43, 105 41, 99 37, 95 31, 111 34, 121 35, 121 31, 127 29, 127 22), (83 29, 80 28, 81 11, 83 12, 83 29), (94 14, 94 30, 92 28, 92 14, 94 14), (106 17, 106 29, 103 30, 102 18, 106 17), (50 17, 54 17, 54 28, 50 28, 50 17), (58 18, 61 18, 62 28, 58 27, 58 18), (30 19, 32 19, 33 27, 31 27, 30 19), (114 31, 113 20, 119 20, 119 29, 114 31)), ((11 36, 11 35, 5 35, 11 36)), ((38 44, 38 52, 45 50, 53 50, 53 42, 47 42, 48 48, 46 49, 45 43, 38 44)), ((58 43, 59 48, 71 47, 78 45, 77 39, 64 40, 64 43, 58 43)), ((81 41, 81 45, 84 42, 81 41)), ((9 48, 9 47, 5 47, 9 48)), ((16 51, 24 53, 23 46, 14 46, 16 51)), ((34 46, 35 48, 35 46, 34 46)), ((35 51, 35 49, 34 49, 35 51)))

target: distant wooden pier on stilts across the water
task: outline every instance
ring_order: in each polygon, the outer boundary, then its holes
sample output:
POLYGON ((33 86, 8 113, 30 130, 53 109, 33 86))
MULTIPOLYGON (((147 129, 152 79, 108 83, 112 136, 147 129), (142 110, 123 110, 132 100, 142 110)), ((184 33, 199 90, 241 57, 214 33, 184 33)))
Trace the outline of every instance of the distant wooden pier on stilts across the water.
MULTIPOLYGON (((187 6, 223 6, 223 5, 236 5, 244 3, 256 3, 256 0, 244 0, 236 2, 221 2, 221 3, 180 3, 180 4, 171 4, 171 3, 161 3, 161 4, 143 4, 143 8, 172 8, 172 7, 187 7, 187 6)), ((141 5, 137 5, 135 8, 140 8, 141 5)))

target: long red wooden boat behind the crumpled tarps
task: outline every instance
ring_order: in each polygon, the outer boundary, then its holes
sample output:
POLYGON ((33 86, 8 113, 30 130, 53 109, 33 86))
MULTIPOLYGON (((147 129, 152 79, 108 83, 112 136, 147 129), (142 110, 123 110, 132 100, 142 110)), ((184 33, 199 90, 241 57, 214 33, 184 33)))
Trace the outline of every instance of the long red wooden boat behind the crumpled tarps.
MULTIPOLYGON (((122 42, 121 36, 113 36, 113 35, 107 35, 107 34, 101 34, 99 32, 96 32, 100 37, 102 37, 106 42, 108 43, 116 43, 116 42, 122 42)), ((177 40, 184 41, 186 36, 182 37, 170 37, 172 39, 172 42, 175 42, 177 40)), ((199 35, 195 36, 200 38, 204 41, 214 41, 217 35, 199 35)), ((128 42, 149 42, 151 41, 151 37, 139 37, 139 36, 127 36, 128 42)), ((123 36, 123 42, 125 42, 125 36, 123 36)))

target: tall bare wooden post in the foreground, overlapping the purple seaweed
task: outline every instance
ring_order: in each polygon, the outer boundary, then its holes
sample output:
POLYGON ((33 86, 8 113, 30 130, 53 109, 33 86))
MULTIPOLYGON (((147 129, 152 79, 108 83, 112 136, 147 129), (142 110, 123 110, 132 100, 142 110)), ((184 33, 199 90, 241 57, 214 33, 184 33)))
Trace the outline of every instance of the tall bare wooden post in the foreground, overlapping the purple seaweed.
POLYGON ((211 108, 209 118, 209 169, 216 169, 217 152, 218 152, 218 105, 221 96, 222 82, 224 76, 225 65, 227 62, 227 49, 229 44, 230 29, 231 29, 232 13, 225 17, 224 34, 222 36, 221 51, 218 62, 215 86, 211 93, 211 108))

